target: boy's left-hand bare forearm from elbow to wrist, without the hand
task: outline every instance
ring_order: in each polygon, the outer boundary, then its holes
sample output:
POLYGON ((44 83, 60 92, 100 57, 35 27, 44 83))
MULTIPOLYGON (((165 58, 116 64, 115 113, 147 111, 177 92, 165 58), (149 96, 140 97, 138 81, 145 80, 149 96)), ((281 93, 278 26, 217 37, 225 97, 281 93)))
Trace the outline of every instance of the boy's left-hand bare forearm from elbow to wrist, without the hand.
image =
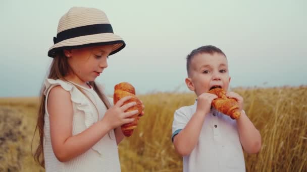
POLYGON ((184 129, 174 136, 174 147, 181 156, 190 154, 194 149, 199 138, 204 117, 206 115, 195 112, 184 129))

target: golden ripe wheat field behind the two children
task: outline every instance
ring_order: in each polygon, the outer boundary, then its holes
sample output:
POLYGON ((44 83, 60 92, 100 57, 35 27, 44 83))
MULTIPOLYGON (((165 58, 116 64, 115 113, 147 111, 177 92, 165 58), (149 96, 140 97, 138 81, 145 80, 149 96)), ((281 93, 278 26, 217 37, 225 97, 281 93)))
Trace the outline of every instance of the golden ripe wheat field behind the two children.
MULTIPOLYGON (((307 87, 235 88, 260 130, 262 149, 245 154, 246 171, 307 171, 307 87)), ((138 95, 145 105, 133 135, 119 145, 122 171, 182 171, 171 142, 173 114, 190 93, 138 95)), ((0 98, 0 171, 44 171, 31 154, 37 98, 0 98)))

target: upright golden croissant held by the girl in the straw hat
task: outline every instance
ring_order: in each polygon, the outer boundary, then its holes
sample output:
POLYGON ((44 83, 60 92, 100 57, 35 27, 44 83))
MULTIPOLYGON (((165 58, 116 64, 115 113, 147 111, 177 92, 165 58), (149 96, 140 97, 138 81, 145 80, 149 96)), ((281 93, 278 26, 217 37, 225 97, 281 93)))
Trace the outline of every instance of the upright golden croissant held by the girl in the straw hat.
POLYGON ((125 112, 129 112, 129 111, 134 111, 134 110, 138 110, 138 113, 131 116, 130 118, 134 118, 134 121, 128 124, 124 124, 121 126, 122 132, 126 137, 129 137, 132 135, 133 133, 133 129, 136 128, 137 126, 137 122, 138 122, 138 116, 141 114, 142 112, 142 103, 141 101, 135 96, 135 89, 134 87, 128 83, 128 82, 121 82, 115 85, 114 87, 114 95, 113 95, 113 102, 114 105, 117 103, 117 101, 119 101, 120 99, 122 99, 123 97, 126 96, 132 96, 131 99, 129 99, 128 101, 126 101, 124 103, 130 103, 130 102, 136 102, 136 105, 133 107, 130 107, 129 109, 127 109, 125 112))

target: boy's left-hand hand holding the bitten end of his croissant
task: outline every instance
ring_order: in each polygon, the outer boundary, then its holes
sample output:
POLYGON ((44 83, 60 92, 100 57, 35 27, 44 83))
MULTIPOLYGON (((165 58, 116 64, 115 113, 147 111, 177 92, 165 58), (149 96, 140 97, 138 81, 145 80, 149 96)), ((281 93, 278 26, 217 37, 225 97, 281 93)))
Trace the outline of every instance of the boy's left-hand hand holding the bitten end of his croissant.
POLYGON ((197 108, 196 112, 200 114, 207 114, 210 112, 211 104, 214 99, 217 99, 218 96, 210 93, 203 93, 197 97, 197 108))

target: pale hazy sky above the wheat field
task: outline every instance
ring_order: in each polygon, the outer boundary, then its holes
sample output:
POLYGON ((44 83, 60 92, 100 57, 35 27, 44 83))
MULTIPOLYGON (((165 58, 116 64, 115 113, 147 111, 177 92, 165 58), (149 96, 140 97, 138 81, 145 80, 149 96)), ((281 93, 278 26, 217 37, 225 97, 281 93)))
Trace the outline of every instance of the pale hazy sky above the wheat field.
POLYGON ((126 47, 96 81, 113 94, 188 92, 186 55, 215 45, 230 87, 307 84, 307 1, 1 1, 0 97, 38 96, 58 22, 71 7, 103 10, 126 47), (266 84, 264 84, 266 83, 266 84))

